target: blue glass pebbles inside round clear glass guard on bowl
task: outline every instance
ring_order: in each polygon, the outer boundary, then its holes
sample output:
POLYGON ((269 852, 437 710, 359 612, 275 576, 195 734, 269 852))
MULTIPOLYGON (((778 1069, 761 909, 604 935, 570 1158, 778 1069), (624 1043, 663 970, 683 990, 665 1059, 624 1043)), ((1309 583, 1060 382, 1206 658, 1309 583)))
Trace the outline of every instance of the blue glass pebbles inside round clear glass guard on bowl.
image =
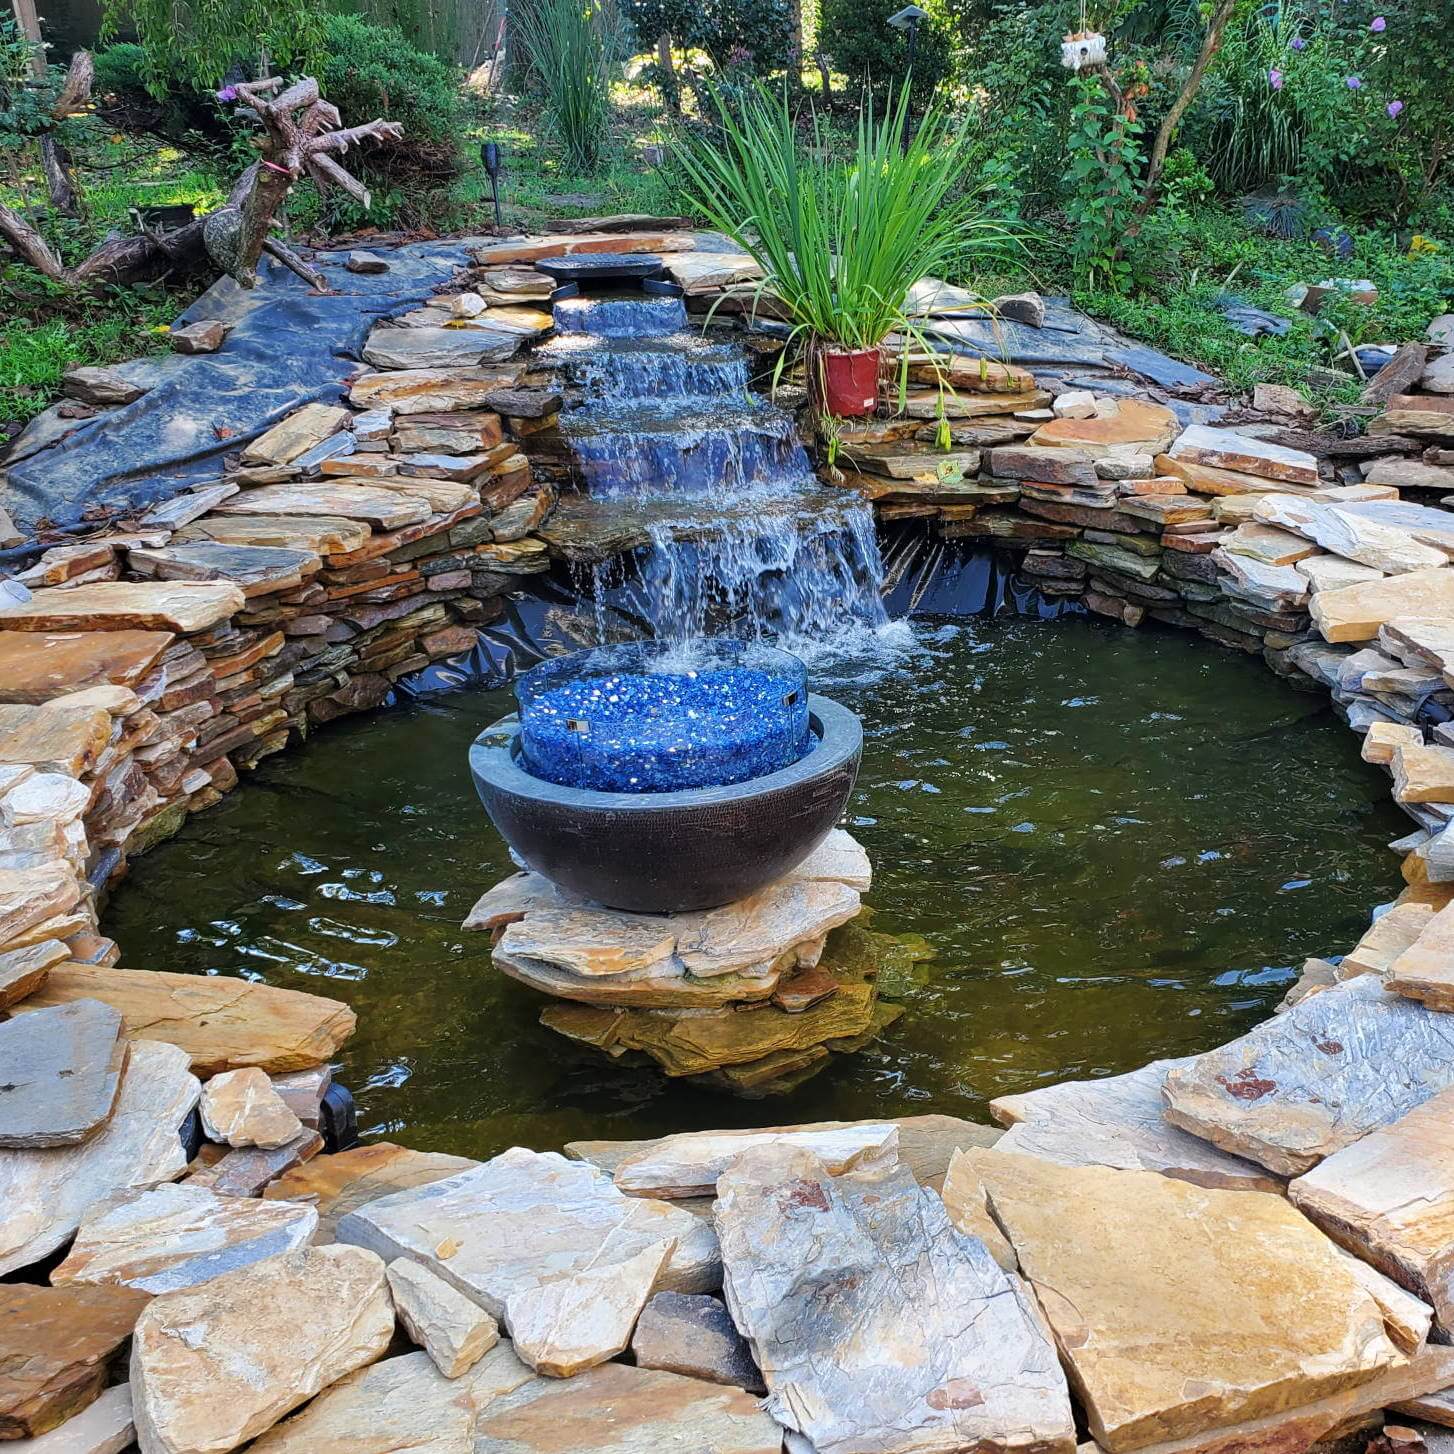
POLYGON ((753 643, 580 651, 526 672, 515 695, 522 766, 570 788, 727 787, 810 747, 807 667, 753 643))

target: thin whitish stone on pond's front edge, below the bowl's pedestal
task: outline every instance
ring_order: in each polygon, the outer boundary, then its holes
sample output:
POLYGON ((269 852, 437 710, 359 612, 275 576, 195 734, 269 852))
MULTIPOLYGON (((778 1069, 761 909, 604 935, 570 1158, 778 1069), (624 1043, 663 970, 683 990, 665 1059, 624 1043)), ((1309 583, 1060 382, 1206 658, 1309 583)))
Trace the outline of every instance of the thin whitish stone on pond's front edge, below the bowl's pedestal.
POLYGON ((621 1191, 637 1197, 711 1197, 718 1176, 753 1146, 800 1147, 836 1176, 864 1160, 897 1157, 899 1128, 869 1121, 811 1131, 686 1131, 627 1157, 616 1166, 614 1181, 621 1191))

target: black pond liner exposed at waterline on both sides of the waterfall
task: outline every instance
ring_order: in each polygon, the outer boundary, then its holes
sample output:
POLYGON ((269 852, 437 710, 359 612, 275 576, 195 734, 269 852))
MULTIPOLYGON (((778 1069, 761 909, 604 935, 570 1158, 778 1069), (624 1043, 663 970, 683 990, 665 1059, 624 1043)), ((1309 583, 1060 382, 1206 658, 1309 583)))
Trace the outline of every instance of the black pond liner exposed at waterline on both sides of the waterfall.
MULTIPOLYGON (((942 539, 913 522, 880 532, 884 606, 890 616, 1085 615, 1077 601, 1043 596, 1016 570, 1018 557, 968 541, 942 539)), ((462 688, 506 686, 537 662, 596 641, 598 624, 612 634, 647 635, 650 622, 634 609, 630 585, 603 593, 601 608, 583 582, 566 570, 532 579, 529 590, 505 598, 505 616, 477 631, 475 646, 433 662, 394 686, 398 698, 430 696, 462 688)))

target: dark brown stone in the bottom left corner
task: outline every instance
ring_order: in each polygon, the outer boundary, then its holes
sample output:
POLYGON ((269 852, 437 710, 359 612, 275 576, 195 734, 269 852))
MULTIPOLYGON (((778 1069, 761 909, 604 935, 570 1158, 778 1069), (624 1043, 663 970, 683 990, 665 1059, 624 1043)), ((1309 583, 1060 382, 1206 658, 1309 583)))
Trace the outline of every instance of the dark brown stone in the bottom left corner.
POLYGON ((0 1284, 0 1442, 45 1434, 100 1397, 145 1304, 131 1288, 0 1284))

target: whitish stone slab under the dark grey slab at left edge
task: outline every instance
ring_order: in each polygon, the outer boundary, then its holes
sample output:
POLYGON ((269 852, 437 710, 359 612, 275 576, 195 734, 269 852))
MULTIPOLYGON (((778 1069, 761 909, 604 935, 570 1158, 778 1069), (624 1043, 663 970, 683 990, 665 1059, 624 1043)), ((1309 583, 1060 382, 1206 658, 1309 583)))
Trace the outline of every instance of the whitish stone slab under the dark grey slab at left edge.
POLYGON ((180 1176, 177 1133, 199 1095, 180 1050, 132 1041, 111 1120, 90 1140, 0 1152, 0 1274, 54 1252, 103 1198, 180 1176))

